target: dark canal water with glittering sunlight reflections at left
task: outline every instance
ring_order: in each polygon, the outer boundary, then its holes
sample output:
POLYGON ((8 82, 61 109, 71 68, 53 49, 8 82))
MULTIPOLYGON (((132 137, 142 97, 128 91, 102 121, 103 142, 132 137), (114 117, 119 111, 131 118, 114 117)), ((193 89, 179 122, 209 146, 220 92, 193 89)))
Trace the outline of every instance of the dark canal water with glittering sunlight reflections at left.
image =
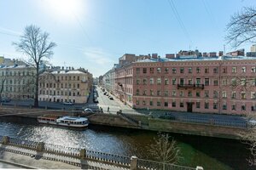
MULTIPOLYGON (((90 126, 85 130, 38 125, 37 123, 3 122, 0 117, 0 135, 44 141, 69 147, 86 148, 123 156, 148 156, 147 146, 152 144, 156 132, 119 127, 90 126)), ((204 169, 253 169, 249 167, 247 145, 239 140, 208 138, 170 133, 177 140, 183 159, 180 165, 204 169)), ((254 167, 255 168, 255 167, 254 167)))

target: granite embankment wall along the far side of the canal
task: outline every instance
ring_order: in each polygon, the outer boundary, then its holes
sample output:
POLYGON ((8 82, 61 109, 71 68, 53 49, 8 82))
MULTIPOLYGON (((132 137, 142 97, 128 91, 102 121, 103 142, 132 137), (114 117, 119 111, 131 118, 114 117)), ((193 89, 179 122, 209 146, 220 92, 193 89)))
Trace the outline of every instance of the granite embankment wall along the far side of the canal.
MULTIPOLYGON (((37 117, 45 114, 57 115, 76 115, 71 111, 49 111, 36 109, 3 109, 0 108, 1 120, 5 119, 9 122, 26 122, 37 123, 37 117), (3 116, 6 115, 6 116, 3 116)), ((159 119, 144 115, 127 115, 127 114, 104 114, 97 113, 88 116, 90 124, 112 126, 112 127, 128 127, 137 129, 146 129, 152 131, 170 132, 170 133, 186 133, 209 137, 218 137, 226 139, 241 139, 241 133, 245 133, 247 128, 217 126, 211 124, 177 122, 173 120, 159 119)))

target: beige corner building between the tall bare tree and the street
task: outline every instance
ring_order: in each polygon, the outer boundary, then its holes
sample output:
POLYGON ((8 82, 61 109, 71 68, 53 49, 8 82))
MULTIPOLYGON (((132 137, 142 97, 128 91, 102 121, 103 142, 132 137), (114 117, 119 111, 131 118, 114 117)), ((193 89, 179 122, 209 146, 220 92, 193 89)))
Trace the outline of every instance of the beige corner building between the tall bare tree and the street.
POLYGON ((39 101, 86 103, 92 75, 83 69, 45 71, 39 78, 39 101))

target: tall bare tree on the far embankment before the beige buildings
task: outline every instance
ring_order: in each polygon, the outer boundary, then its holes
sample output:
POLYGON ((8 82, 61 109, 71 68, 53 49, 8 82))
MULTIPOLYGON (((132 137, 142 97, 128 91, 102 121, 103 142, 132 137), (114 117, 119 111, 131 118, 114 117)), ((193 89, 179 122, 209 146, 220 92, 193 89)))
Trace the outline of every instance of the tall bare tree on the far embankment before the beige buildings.
POLYGON ((49 59, 53 55, 53 48, 55 42, 49 42, 49 33, 41 31, 38 26, 26 26, 24 35, 20 37, 20 42, 13 43, 17 49, 29 57, 28 63, 36 69, 35 82, 35 98, 34 107, 38 107, 38 82, 40 71, 40 64, 44 59, 49 59))

